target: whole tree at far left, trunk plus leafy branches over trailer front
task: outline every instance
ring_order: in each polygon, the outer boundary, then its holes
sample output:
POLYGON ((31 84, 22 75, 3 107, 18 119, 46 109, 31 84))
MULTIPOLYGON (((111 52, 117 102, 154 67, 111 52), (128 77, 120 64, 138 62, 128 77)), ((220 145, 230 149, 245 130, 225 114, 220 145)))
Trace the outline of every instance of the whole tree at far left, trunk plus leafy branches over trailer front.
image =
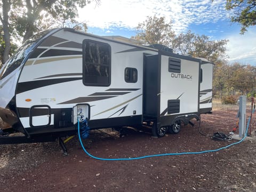
MULTIPOLYGON (((99 0, 95 1, 99 3, 99 0)), ((90 0, 1 0, 4 62, 10 56, 11 35, 25 42, 37 31, 49 28, 54 23, 76 22, 77 6, 84 7, 87 3, 90 0)))

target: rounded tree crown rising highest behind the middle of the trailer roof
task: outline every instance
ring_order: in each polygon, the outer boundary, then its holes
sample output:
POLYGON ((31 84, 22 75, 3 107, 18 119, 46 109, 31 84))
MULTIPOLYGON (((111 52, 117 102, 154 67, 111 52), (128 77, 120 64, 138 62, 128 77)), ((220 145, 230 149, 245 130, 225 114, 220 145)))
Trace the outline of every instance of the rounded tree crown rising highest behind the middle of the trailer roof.
POLYGON ((132 38, 147 44, 169 45, 170 39, 174 37, 171 23, 165 23, 164 17, 147 17, 146 21, 139 23, 137 34, 132 38))

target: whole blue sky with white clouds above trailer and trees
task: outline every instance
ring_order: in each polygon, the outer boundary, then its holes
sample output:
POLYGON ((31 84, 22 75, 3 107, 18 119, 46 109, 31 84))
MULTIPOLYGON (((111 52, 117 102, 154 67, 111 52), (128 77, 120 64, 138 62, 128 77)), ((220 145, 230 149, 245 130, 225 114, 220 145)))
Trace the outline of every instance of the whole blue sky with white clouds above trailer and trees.
POLYGON ((230 22, 233 11, 225 9, 225 0, 101 0, 79 9, 79 21, 86 22, 87 32, 94 35, 117 35, 130 38, 135 28, 147 16, 172 20, 175 34, 207 35, 212 39, 228 39, 227 55, 230 64, 256 66, 256 26, 239 34, 240 26, 230 22))

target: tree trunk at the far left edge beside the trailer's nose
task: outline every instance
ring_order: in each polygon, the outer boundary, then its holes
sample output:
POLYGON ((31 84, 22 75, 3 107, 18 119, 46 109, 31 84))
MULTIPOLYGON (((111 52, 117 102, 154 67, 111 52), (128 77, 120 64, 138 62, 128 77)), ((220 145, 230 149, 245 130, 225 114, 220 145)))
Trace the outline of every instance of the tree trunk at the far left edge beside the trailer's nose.
POLYGON ((9 16, 8 12, 10 10, 10 4, 8 0, 2 0, 3 2, 3 18, 0 18, 3 23, 3 31, 4 31, 4 42, 5 42, 5 49, 3 60, 6 62, 9 59, 10 51, 11 51, 11 36, 9 30, 9 16))

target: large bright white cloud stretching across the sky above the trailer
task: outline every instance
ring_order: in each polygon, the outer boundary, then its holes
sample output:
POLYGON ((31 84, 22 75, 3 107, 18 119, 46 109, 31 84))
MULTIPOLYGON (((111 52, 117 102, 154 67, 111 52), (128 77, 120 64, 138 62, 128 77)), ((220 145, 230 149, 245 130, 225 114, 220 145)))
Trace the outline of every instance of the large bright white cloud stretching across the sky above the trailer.
POLYGON ((147 16, 165 17, 173 21, 173 29, 180 33, 191 23, 217 22, 228 17, 225 1, 214 0, 104 0, 79 10, 79 18, 90 27, 127 27, 134 29, 147 16))

